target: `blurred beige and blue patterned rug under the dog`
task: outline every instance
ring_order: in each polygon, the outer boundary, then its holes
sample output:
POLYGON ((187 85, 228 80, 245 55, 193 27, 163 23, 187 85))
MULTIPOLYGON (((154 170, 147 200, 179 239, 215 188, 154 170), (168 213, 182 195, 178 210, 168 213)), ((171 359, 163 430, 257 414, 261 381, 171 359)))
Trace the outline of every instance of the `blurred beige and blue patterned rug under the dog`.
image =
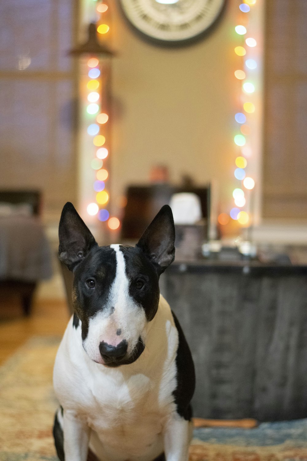
MULTIPOLYGON (((0 461, 58 461, 52 439, 58 343, 32 338, 0 368, 0 461)), ((190 461, 307 461, 307 420, 196 428, 190 461)))

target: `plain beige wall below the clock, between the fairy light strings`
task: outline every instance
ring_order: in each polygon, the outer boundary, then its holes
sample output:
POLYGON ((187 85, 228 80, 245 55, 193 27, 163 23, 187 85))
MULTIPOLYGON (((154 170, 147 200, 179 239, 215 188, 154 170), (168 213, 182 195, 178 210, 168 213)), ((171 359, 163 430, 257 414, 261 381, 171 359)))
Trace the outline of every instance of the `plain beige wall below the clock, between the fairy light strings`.
POLYGON ((165 49, 139 38, 114 2, 113 199, 127 184, 146 182, 151 165, 164 163, 173 182, 183 173, 199 184, 215 179, 220 199, 230 203, 238 5, 228 1, 217 27, 199 43, 165 49))

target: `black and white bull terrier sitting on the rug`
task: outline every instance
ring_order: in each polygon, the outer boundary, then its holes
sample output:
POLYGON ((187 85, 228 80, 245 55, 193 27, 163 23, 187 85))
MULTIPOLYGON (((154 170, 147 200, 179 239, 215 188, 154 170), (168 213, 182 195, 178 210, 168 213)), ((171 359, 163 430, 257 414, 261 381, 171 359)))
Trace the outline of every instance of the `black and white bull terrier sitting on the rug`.
POLYGON ((99 247, 73 205, 64 206, 59 258, 74 272, 75 314, 53 376, 61 461, 86 461, 88 449, 101 461, 188 460, 194 365, 159 292, 174 239, 167 205, 135 247, 99 247))

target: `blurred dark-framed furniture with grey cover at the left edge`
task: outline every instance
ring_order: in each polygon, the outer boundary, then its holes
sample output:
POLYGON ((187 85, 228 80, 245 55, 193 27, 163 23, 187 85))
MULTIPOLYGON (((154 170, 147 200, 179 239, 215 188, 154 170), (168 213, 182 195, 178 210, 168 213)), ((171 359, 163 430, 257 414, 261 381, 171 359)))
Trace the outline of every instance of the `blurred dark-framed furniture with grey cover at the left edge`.
POLYGON ((40 191, 0 191, 0 290, 17 292, 26 315, 37 282, 52 275, 40 210, 40 191))

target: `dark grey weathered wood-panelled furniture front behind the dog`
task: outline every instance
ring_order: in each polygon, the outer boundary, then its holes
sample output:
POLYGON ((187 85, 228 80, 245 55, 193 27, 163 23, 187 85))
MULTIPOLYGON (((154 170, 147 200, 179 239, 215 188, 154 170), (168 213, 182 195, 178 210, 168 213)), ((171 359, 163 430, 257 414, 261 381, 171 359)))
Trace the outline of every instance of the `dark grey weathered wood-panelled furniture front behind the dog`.
POLYGON ((192 351, 194 416, 307 417, 307 261, 175 260, 161 292, 192 351))

